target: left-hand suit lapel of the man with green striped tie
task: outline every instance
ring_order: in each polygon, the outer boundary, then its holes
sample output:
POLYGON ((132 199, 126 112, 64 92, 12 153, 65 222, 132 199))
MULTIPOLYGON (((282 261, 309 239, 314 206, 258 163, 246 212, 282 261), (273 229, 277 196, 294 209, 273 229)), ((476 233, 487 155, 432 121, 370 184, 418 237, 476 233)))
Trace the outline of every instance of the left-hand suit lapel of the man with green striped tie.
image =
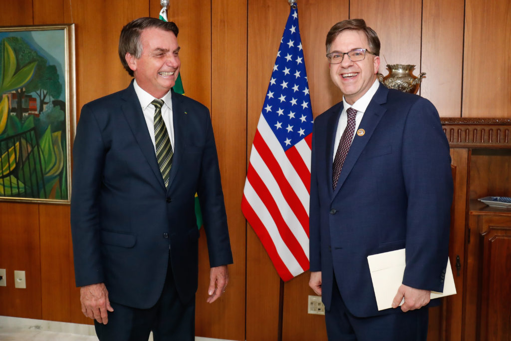
POLYGON ((126 118, 126 121, 128 121, 128 125, 133 132, 135 140, 138 143, 138 146, 140 146, 140 149, 142 149, 142 154, 144 154, 146 161, 149 163, 149 166, 151 166, 151 170, 153 171, 154 175, 158 179, 161 186, 165 188, 165 183, 161 177, 158 161, 156 160, 154 145, 151 141, 149 131, 147 130, 147 124, 144 120, 144 113, 142 112, 138 97, 136 96, 133 82, 131 82, 130 86, 125 90, 124 94, 122 95, 122 99, 124 100, 124 103, 121 105, 121 110, 124 114, 124 117, 126 118))

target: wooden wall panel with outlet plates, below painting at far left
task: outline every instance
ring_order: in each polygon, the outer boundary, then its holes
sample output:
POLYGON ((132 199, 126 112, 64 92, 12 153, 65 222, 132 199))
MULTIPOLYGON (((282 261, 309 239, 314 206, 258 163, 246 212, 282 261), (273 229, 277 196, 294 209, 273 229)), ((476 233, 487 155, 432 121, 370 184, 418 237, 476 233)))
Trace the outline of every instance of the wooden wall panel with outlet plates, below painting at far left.
POLYGON ((0 203, 0 315, 41 318, 41 267, 37 204, 0 203), (14 271, 25 271, 26 289, 14 287, 14 271))

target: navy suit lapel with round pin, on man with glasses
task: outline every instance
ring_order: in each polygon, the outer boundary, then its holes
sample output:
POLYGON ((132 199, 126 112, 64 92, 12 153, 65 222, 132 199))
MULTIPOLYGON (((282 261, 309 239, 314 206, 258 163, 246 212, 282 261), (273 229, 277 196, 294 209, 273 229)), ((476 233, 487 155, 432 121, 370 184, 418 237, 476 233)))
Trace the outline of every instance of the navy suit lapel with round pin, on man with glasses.
MULTIPOLYGON (((367 142, 371 138, 371 135, 373 135, 376 126, 383 117, 386 108, 382 104, 387 102, 387 94, 388 89, 382 84, 380 84, 378 90, 373 96, 373 99, 371 99, 371 101, 369 102, 369 105, 367 106, 367 109, 364 112, 364 117, 362 118, 362 121, 360 122, 360 125, 358 127, 358 129, 364 129, 365 133, 362 136, 355 134, 355 138, 353 139, 350 151, 346 155, 346 160, 344 160, 344 164, 342 165, 342 171, 339 176, 337 187, 335 188, 334 191, 334 196, 337 195, 337 193, 339 192, 339 189, 342 187, 344 180, 346 180, 347 176, 352 171, 360 154, 362 153, 365 146, 367 145, 367 142)), ((332 172, 332 170, 330 172, 332 172)))

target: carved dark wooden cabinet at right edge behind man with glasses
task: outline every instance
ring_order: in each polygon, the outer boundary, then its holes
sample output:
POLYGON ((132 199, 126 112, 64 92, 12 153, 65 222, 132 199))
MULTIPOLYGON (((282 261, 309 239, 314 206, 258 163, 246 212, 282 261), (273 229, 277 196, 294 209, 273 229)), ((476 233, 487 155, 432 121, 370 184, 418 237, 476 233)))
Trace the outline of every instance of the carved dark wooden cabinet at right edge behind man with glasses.
POLYGON ((454 174, 449 256, 457 294, 445 298, 442 307, 430 309, 428 340, 507 340, 511 209, 491 208, 477 199, 511 196, 511 120, 442 119, 442 123, 454 174))

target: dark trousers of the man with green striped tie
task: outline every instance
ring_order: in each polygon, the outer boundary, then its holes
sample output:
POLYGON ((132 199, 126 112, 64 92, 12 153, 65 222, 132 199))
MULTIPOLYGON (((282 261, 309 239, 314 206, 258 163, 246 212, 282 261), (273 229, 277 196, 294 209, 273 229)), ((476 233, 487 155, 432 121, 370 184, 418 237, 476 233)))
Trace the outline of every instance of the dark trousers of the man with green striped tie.
POLYGON ((154 341, 195 339, 195 297, 186 304, 181 303, 170 263, 161 297, 152 308, 110 304, 113 312, 108 312, 108 323, 94 321, 101 341, 147 341, 151 331, 154 341))

